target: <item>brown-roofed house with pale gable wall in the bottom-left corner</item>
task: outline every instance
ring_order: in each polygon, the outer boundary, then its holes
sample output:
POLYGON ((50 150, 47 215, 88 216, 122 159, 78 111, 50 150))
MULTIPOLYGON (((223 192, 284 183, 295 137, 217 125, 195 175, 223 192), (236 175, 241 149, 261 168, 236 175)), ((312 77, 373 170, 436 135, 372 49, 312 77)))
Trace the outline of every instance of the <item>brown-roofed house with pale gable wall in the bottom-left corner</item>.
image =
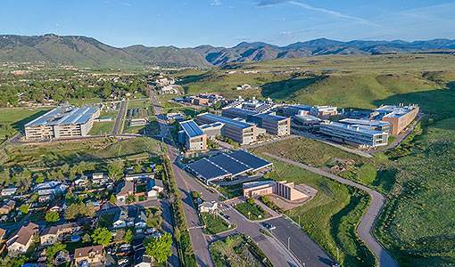
POLYGON ((39 226, 35 223, 29 223, 22 226, 20 230, 14 232, 10 239, 6 241, 8 253, 11 255, 24 254, 29 249, 33 236, 39 233, 39 226))

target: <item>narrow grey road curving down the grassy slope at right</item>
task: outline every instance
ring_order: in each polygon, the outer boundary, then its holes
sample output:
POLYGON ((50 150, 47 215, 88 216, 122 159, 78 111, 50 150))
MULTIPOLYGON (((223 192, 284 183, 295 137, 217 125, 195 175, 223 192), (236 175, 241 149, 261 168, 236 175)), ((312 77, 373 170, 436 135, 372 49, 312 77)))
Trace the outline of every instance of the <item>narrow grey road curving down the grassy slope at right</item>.
POLYGON ((384 247, 382 247, 377 240, 373 237, 371 234, 371 230, 373 229, 373 225, 376 223, 376 219, 378 214, 381 212, 381 209, 384 206, 384 197, 381 195, 379 192, 376 190, 372 190, 364 185, 361 185, 357 182, 352 182, 350 180, 343 179, 342 177, 336 176, 334 174, 327 173, 323 170, 320 170, 318 168, 308 166, 305 164, 302 164, 300 162, 295 162, 294 160, 288 159, 288 158, 281 158, 276 155, 270 154, 270 153, 263 153, 266 156, 269 156, 270 158, 275 158, 281 161, 284 161, 285 163, 298 166, 301 168, 304 168, 306 170, 309 170, 312 173, 319 174, 322 176, 326 176, 327 178, 333 179, 337 182, 341 182, 343 184, 351 185, 353 187, 359 188, 360 190, 365 190, 371 195, 371 203, 368 206, 367 213, 365 213, 359 223, 359 227, 357 229, 357 232, 359 233, 360 239, 365 241, 369 249, 373 251, 373 253, 376 255, 376 258, 378 260, 379 266, 387 266, 387 267, 394 267, 398 266, 398 264, 395 262, 393 259, 392 255, 390 255, 384 247))

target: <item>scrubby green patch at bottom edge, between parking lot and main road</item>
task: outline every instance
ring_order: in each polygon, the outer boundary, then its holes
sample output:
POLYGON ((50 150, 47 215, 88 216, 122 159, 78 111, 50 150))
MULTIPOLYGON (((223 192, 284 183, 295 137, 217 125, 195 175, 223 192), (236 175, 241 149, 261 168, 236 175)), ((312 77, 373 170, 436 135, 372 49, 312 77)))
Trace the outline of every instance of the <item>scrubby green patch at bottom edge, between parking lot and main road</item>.
POLYGON ((261 248, 244 235, 215 241, 209 249, 215 267, 273 266, 261 248))

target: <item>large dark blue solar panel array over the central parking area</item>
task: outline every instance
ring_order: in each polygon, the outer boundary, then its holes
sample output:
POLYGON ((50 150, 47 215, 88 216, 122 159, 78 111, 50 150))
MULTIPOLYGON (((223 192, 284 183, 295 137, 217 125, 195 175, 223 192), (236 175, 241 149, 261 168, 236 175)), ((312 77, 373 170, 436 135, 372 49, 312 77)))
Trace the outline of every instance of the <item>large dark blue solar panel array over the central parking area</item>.
POLYGON ((255 171, 271 163, 244 150, 233 153, 221 153, 215 157, 202 158, 190 164, 187 168, 193 174, 205 181, 235 177, 250 171, 255 171))

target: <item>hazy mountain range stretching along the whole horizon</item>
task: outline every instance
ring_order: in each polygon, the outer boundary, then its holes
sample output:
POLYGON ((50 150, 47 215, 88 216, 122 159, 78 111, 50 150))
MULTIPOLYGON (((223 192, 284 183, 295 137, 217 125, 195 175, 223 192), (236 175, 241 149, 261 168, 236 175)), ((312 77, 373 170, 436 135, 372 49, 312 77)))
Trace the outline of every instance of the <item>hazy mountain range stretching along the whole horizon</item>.
POLYGON ((88 68, 126 69, 143 66, 210 68, 227 63, 269 61, 327 54, 370 55, 455 50, 455 40, 434 39, 406 42, 341 42, 319 38, 286 46, 262 42, 234 47, 200 45, 147 47, 142 44, 118 48, 87 36, 0 36, 0 62, 47 62, 88 68))

